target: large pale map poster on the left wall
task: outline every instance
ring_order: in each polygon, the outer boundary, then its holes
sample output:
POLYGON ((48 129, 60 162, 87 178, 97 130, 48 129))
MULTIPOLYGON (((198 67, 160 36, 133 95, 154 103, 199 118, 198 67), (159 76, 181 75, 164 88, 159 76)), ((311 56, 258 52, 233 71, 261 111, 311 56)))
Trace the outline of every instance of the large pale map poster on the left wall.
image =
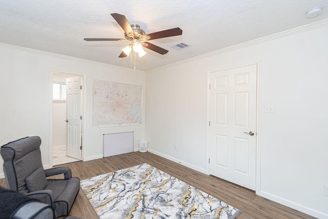
POLYGON ((93 126, 142 122, 142 86, 93 81, 93 126))

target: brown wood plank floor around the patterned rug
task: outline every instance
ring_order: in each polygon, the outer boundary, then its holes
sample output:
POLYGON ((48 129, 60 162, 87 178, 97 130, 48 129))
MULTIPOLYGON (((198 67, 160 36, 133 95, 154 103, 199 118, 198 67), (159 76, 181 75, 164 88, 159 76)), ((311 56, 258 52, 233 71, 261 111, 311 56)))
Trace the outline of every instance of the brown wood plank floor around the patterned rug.
MULTIPOLYGON (((72 170, 72 175, 81 180, 95 175, 112 172, 115 170, 148 163, 179 180, 182 180, 204 192, 213 195, 243 212, 238 217, 242 218, 314 218, 310 215, 296 211, 276 202, 267 200, 255 194, 254 191, 245 189, 233 183, 209 176, 163 157, 146 152, 134 152, 117 156, 101 158, 87 162, 67 164, 72 170)), ((5 186, 5 179, 0 179, 0 186, 5 186)), ((83 191, 79 191, 70 215, 80 218, 98 218, 83 191)))

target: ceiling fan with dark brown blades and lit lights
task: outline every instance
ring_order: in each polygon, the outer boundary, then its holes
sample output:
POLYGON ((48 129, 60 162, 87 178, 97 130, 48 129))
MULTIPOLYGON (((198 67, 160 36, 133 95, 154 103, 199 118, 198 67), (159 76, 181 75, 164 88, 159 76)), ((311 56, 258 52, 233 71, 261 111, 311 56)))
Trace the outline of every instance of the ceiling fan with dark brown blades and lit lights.
POLYGON ((162 30, 154 33, 146 34, 144 30, 140 29, 137 24, 130 25, 127 18, 122 14, 113 13, 111 14, 116 22, 124 30, 125 38, 84 38, 85 41, 130 41, 131 44, 126 46, 121 54, 120 58, 126 57, 133 50, 138 53, 139 57, 144 56, 147 52, 143 49, 147 48, 153 50, 161 55, 168 53, 169 51, 159 46, 149 43, 151 39, 165 38, 169 36, 182 35, 182 30, 178 27, 162 30), (146 41, 146 42, 145 42, 146 41))

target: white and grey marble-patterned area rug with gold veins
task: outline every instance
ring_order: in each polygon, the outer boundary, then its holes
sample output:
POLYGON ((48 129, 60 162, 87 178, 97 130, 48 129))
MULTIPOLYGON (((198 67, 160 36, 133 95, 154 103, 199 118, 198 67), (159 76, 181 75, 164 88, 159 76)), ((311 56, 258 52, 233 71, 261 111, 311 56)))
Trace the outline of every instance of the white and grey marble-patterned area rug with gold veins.
POLYGON ((241 210, 141 164, 81 181, 100 218, 236 218, 241 210))

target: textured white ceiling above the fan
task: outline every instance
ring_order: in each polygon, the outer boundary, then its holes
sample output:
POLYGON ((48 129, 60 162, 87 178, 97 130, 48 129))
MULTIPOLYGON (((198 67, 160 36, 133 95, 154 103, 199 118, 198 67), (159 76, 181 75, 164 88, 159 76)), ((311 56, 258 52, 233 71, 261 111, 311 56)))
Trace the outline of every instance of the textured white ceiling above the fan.
POLYGON ((169 50, 136 57, 149 70, 328 18, 327 0, 0 0, 0 43, 85 58, 127 68, 118 58, 127 42, 86 42, 84 38, 124 38, 111 13, 124 14, 146 33, 180 27, 181 36, 150 41, 169 50), (309 9, 323 13, 306 18, 309 9), (175 50, 186 43, 191 47, 175 50))

